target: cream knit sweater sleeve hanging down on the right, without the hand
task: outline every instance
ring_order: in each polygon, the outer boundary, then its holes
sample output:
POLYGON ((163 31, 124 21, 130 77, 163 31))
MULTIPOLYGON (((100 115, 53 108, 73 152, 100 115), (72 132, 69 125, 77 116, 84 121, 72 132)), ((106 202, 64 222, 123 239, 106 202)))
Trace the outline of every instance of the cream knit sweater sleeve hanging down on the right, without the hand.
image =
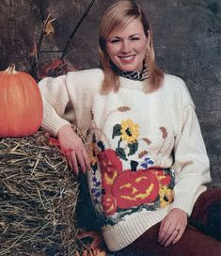
POLYGON ((182 127, 175 138, 174 158, 177 181, 172 208, 180 208, 190 216, 197 196, 205 190, 202 184, 211 182, 209 158, 193 104, 182 109, 182 127))

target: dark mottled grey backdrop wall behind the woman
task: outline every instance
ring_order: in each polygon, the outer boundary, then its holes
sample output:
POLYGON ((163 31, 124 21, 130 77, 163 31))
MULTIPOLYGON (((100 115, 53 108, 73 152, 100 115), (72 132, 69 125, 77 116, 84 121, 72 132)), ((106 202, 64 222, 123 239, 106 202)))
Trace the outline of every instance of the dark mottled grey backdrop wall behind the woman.
MULTIPOLYGON (((115 1, 97 0, 77 30, 65 60, 75 69, 99 66, 98 24, 115 1)), ((55 33, 41 43, 39 67, 59 58, 89 0, 1 0, 0 70, 13 62, 30 72, 34 40, 39 44, 50 13, 55 33)), ((158 66, 181 76, 197 106, 197 116, 211 159, 213 185, 221 186, 221 1, 139 0, 150 18, 158 66)))

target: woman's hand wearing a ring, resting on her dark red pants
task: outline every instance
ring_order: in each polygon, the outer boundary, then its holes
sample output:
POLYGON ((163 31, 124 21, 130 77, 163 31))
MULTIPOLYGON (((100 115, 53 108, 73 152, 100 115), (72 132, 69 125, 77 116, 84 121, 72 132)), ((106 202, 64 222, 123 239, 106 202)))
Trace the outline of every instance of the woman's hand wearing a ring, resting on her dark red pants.
POLYGON ((187 214, 174 208, 163 219, 158 235, 158 242, 165 247, 176 244, 182 238, 187 225, 187 214))

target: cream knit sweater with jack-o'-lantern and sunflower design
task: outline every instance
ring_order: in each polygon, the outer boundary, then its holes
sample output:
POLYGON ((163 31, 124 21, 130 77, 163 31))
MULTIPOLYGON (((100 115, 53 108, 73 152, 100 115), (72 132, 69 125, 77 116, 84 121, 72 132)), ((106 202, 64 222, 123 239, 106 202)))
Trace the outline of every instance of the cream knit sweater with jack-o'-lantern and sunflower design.
POLYGON ((110 250, 132 243, 171 209, 189 216, 211 181, 209 160, 182 79, 165 75, 161 88, 120 77, 120 88, 100 94, 103 72, 69 72, 39 82, 42 128, 56 136, 73 122, 87 137, 91 200, 103 219, 110 250))

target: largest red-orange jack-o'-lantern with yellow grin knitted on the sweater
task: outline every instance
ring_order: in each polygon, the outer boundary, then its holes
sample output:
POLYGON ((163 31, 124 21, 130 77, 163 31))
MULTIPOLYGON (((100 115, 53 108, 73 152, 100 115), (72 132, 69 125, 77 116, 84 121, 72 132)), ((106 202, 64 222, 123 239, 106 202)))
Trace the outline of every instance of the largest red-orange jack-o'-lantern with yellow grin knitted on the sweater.
POLYGON ((159 181, 150 171, 125 170, 118 175, 112 186, 112 195, 120 209, 127 209, 143 203, 150 203, 159 193, 159 181))

